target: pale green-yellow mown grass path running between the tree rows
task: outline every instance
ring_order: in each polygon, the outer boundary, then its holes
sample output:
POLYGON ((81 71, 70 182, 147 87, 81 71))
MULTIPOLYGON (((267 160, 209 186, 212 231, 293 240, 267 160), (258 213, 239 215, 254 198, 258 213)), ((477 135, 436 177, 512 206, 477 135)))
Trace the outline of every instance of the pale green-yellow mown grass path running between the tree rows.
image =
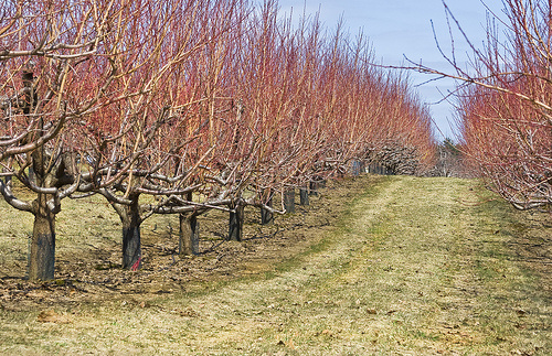
POLYGON ((22 316, 3 327, 26 323, 28 345, 0 353, 550 355, 550 289, 509 245, 505 206, 481 194, 475 181, 385 177, 269 276, 83 306, 71 324, 22 316))

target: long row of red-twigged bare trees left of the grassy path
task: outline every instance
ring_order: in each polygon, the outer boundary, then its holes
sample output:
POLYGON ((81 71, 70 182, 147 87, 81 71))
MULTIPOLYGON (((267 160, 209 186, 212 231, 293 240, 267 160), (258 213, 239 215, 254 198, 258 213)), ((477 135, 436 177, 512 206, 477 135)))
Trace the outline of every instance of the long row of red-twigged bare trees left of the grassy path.
POLYGON ((373 62, 361 33, 274 0, 3 1, 0 191, 34 215, 30 278, 54 276, 67 197, 109 202, 137 269, 152 214, 284 213, 273 196, 353 161, 431 165, 427 108, 373 62))

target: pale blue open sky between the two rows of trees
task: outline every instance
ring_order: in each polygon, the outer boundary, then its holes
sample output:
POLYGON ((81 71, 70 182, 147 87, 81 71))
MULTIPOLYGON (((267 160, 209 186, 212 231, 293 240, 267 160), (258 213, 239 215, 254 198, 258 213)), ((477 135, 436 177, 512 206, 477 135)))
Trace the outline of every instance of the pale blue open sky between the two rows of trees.
MULTIPOLYGON (((320 10, 320 20, 328 30, 336 29, 340 18, 346 29, 355 35, 362 29, 373 46, 378 62, 389 66, 406 65, 405 57, 436 69, 453 73, 453 67, 439 53, 435 34, 446 55, 452 55, 453 46, 447 25, 447 17, 442 0, 279 0, 280 13, 302 15, 320 10)), ((446 0, 463 31, 476 47, 482 47, 486 36, 488 10, 480 0, 446 0)), ((501 0, 485 0, 497 15, 503 17, 501 0)), ((454 53, 458 63, 467 65, 469 45, 456 25, 453 24, 454 53)), ((429 104, 436 125, 437 140, 450 138, 456 141, 454 107, 443 100, 454 89, 452 79, 426 83, 432 77, 411 72, 411 82, 423 101, 429 104), (439 103, 440 101, 440 103, 439 103)))

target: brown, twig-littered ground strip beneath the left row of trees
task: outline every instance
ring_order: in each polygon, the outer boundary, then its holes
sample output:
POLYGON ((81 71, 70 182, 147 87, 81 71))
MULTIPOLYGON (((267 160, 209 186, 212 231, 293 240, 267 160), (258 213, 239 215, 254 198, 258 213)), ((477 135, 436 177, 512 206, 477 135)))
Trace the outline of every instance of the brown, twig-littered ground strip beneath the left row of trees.
MULTIPOLYGON (((144 263, 138 272, 120 268, 120 224, 114 213, 98 202, 85 205, 70 201, 57 225, 61 241, 54 281, 28 281, 25 244, 18 240, 25 233, 17 228, 8 231, 6 226, 0 230, 3 247, 13 241, 9 250, 6 248, 0 263, 0 308, 22 311, 128 300, 132 295, 148 300, 160 294, 202 291, 219 282, 268 272, 278 262, 320 241, 323 231, 331 229, 343 213, 346 204, 375 180, 375 176, 363 176, 330 181, 318 196, 310 197, 309 206, 297 205, 295 214, 277 216, 275 223, 267 226, 258 224, 257 209, 246 208, 242 242, 224 239, 225 213, 210 212, 199 218, 200 255, 195 257, 178 256, 178 217, 152 217, 142 224, 144 263), (81 205, 72 206, 75 204, 81 205)), ((9 225, 11 219, 21 223, 15 214, 22 213, 6 205, 0 209, 6 212, 2 224, 9 225)), ((30 223, 28 218, 19 229, 31 230, 30 223)))

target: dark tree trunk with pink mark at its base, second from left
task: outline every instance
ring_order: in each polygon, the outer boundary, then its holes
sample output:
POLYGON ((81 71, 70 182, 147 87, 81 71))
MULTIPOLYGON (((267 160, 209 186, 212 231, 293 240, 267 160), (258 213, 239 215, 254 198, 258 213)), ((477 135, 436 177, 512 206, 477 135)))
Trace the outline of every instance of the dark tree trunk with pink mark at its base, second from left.
POLYGON ((123 268, 132 271, 141 268, 140 207, 138 198, 117 211, 123 223, 123 268))

